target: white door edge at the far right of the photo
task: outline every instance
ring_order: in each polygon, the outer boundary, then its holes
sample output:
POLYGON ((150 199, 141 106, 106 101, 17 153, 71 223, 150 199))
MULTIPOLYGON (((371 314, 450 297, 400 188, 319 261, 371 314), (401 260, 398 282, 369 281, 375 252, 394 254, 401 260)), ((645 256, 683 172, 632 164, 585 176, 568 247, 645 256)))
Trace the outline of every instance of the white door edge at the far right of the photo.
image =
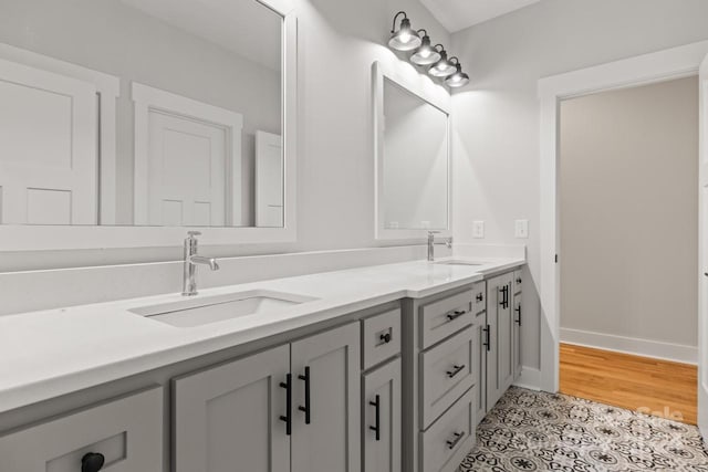
POLYGON ((708 438, 708 56, 700 65, 698 426, 708 438))

